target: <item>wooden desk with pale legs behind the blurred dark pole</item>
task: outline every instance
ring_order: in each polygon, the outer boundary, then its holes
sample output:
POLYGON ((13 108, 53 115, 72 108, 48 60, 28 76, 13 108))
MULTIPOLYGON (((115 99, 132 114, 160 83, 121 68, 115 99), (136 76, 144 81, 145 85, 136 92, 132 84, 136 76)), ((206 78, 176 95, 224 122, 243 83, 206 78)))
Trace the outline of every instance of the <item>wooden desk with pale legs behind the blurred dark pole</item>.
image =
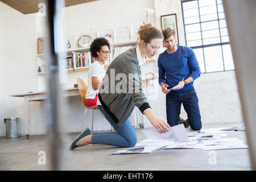
MULTIPOLYGON (((80 96, 78 88, 64 90, 64 97, 80 96)), ((46 92, 32 92, 25 94, 10 95, 11 97, 24 97, 24 119, 27 139, 30 137, 30 102, 46 100, 46 92)))

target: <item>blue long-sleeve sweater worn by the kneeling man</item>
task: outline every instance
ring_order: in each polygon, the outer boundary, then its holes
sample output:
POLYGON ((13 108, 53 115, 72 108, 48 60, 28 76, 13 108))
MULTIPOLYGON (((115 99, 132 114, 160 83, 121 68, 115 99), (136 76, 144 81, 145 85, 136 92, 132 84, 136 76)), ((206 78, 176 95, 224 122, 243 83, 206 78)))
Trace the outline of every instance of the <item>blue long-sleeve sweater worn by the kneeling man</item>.
MULTIPOLYGON (((171 54, 167 50, 158 57, 159 84, 166 83, 169 88, 176 86, 183 78, 189 76, 196 80, 201 74, 196 55, 189 47, 177 45, 177 51, 171 54)), ((182 89, 173 92, 185 92, 193 87, 193 81, 182 89)))

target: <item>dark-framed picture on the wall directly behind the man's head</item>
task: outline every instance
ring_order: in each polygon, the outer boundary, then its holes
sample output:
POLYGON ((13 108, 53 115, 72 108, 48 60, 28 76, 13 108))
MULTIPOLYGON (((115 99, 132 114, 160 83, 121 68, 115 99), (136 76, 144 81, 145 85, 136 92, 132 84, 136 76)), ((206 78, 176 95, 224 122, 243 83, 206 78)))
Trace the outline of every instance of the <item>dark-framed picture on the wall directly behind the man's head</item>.
POLYGON ((177 37, 177 44, 179 44, 179 32, 177 30, 177 15, 175 14, 169 14, 169 15, 162 15, 161 18, 161 24, 162 24, 162 30, 164 28, 170 27, 174 29, 177 37))

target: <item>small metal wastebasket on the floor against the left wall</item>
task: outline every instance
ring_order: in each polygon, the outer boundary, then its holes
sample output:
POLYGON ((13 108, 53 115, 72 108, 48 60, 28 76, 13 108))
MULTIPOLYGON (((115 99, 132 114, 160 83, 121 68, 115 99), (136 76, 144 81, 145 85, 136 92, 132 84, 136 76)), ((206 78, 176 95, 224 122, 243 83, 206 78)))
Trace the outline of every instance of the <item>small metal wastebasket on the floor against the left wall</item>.
POLYGON ((6 138, 20 137, 20 122, 19 118, 5 118, 3 121, 6 124, 6 138))

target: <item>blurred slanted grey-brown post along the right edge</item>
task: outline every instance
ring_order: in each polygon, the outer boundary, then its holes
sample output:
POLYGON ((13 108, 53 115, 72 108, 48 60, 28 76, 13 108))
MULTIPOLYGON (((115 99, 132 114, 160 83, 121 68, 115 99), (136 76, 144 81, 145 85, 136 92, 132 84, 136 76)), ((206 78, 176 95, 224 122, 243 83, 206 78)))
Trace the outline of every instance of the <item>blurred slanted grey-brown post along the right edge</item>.
POLYGON ((251 168, 256 170, 256 1, 224 0, 251 168))

